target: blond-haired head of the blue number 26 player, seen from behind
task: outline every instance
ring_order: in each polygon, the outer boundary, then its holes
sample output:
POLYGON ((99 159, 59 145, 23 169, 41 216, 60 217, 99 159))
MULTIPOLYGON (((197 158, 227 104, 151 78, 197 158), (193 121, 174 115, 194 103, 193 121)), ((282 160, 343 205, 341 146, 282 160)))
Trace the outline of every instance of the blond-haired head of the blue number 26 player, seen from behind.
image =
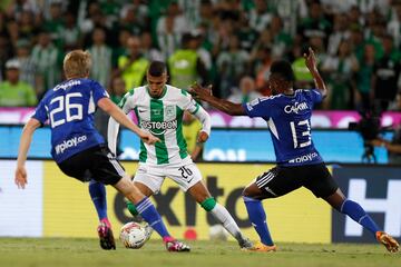
POLYGON ((85 78, 89 76, 91 57, 88 51, 74 50, 66 55, 62 68, 66 78, 85 78))

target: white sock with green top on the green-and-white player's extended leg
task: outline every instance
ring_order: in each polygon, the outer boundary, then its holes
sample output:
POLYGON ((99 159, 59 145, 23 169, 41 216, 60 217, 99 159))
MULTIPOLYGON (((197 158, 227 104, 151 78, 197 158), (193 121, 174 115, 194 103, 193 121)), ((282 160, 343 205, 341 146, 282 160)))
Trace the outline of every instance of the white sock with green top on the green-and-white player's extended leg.
POLYGON ((208 198, 200 204, 200 206, 208 212, 213 214, 215 219, 223 225, 223 227, 239 243, 244 241, 238 225, 235 222, 228 210, 216 202, 214 198, 208 198))

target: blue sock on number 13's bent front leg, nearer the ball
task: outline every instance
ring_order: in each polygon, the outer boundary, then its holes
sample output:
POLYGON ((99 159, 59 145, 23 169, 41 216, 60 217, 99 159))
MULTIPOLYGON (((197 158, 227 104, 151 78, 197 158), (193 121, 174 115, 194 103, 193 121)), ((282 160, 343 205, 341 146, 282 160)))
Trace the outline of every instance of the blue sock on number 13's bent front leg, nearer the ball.
POLYGON ((264 245, 273 246, 273 240, 270 235, 267 224, 266 224, 266 214, 263 209, 261 200, 243 197, 246 206, 246 210, 248 212, 250 220, 252 225, 255 227, 257 235, 261 237, 261 241, 264 245))

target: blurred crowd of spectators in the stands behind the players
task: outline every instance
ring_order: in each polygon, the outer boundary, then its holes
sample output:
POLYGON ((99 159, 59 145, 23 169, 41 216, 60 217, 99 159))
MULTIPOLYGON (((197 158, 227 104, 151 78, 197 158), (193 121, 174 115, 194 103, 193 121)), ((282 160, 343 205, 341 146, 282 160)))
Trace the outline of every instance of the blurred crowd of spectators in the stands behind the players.
POLYGON ((77 48, 115 101, 163 60, 173 86, 212 83, 245 102, 271 93, 277 58, 292 62, 296 88, 313 87, 312 47, 331 89, 320 108, 397 110, 400 44, 401 0, 2 0, 0 106, 35 106, 77 48))

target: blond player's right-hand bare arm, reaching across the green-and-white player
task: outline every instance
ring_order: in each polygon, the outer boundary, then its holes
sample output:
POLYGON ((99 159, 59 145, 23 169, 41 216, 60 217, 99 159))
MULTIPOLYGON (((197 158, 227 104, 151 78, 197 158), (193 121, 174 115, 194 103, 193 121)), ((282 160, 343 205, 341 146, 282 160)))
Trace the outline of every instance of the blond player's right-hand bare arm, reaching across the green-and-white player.
POLYGON ((101 98, 98 101, 99 108, 101 108, 106 113, 110 115, 117 122, 124 125, 136 135, 143 139, 144 142, 148 145, 154 145, 155 142, 160 141, 157 137, 153 136, 151 134, 143 131, 139 127, 137 127, 121 109, 119 109, 114 102, 111 102, 108 98, 101 98))

